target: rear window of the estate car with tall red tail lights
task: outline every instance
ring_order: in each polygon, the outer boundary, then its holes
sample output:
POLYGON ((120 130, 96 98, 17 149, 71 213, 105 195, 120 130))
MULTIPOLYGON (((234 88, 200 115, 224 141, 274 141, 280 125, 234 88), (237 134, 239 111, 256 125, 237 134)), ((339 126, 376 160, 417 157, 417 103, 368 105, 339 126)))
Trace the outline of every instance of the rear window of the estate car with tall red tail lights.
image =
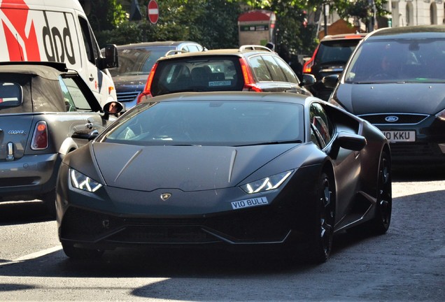
POLYGON ((153 96, 173 92, 241 91, 238 57, 187 57, 160 61, 150 87, 153 96))

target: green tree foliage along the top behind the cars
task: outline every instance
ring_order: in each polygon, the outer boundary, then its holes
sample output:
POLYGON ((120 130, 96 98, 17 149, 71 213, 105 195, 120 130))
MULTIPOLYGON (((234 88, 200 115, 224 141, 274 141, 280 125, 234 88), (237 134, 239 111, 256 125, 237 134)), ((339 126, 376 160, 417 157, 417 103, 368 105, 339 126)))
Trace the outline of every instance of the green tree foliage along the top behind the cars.
MULTIPOLYGON (((159 20, 151 24, 146 8, 149 0, 139 0, 142 20, 128 20, 129 12, 122 8, 122 0, 91 1, 88 15, 99 45, 126 44, 143 41, 190 40, 206 48, 239 46, 237 20, 245 9, 265 9, 276 14, 274 42, 277 50, 291 54, 311 54, 318 43, 316 24, 307 18, 320 18, 323 0, 158 0, 159 20)), ((377 15, 386 0, 375 0, 377 15)), ((331 10, 345 19, 357 17, 369 20, 368 0, 332 0, 331 10)))

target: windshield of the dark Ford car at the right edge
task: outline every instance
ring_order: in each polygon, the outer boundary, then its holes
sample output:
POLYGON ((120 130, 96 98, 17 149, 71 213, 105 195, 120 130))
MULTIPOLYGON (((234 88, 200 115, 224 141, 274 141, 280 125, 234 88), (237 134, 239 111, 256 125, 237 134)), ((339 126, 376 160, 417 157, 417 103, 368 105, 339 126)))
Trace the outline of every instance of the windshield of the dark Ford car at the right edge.
POLYGON ((345 82, 445 82, 445 40, 366 41, 346 70, 345 82))

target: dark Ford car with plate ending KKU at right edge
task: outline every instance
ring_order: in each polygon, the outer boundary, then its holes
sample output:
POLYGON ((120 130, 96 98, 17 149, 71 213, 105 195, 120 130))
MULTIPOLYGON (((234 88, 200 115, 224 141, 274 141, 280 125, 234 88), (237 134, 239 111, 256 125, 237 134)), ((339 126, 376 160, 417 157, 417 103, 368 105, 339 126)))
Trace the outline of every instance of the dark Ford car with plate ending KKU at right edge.
POLYGON ((445 27, 385 28, 355 50, 331 103, 376 125, 397 166, 445 164, 445 27))

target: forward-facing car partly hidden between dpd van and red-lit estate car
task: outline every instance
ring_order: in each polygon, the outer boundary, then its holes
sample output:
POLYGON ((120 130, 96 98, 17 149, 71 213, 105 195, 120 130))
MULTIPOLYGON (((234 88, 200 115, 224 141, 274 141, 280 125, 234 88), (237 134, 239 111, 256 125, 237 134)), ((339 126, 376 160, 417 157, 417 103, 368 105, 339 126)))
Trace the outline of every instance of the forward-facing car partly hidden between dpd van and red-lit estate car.
POLYGON ((109 69, 118 95, 126 109, 136 105, 136 99, 146 85, 153 64, 164 55, 181 52, 202 52, 206 48, 193 41, 157 41, 118 45, 119 66, 109 69))

